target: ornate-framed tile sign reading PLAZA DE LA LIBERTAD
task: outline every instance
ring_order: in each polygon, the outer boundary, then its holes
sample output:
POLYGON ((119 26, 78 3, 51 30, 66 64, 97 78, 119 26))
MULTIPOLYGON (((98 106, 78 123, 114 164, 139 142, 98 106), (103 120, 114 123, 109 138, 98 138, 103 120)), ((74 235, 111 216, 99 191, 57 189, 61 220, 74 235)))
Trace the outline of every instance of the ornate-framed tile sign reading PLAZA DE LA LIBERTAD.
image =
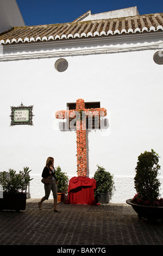
POLYGON ((11 107, 11 126, 12 125, 33 125, 33 106, 11 107))

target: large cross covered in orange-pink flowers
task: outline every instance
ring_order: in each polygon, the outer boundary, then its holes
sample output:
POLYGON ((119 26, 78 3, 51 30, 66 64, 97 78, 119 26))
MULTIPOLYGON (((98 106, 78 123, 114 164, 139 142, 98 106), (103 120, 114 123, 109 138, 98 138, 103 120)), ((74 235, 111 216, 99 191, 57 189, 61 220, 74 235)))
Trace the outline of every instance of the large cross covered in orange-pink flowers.
POLYGON ((77 118, 76 130, 77 130, 77 174, 78 176, 86 176, 86 118, 93 117, 105 117, 105 108, 85 108, 83 99, 78 99, 76 102, 76 109, 62 110, 55 113, 55 118, 77 118))

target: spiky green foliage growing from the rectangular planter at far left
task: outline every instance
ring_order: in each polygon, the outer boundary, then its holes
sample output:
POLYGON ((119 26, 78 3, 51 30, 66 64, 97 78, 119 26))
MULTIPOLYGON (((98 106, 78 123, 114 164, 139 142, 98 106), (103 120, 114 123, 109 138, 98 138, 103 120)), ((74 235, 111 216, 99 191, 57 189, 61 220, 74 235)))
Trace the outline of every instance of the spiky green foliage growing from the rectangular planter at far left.
POLYGON ((3 187, 3 192, 16 194, 26 190, 27 184, 32 180, 29 176, 30 171, 28 167, 24 167, 23 171, 20 170, 18 174, 14 169, 9 169, 9 172, 1 172, 0 184, 3 187))

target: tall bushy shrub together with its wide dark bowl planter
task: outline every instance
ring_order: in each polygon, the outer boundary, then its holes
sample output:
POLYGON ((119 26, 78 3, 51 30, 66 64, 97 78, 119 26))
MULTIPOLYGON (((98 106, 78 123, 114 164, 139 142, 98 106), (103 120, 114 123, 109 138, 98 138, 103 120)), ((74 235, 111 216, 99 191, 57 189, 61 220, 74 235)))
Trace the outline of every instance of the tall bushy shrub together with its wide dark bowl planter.
POLYGON ((159 198, 159 155, 153 149, 145 151, 138 157, 135 170, 136 194, 133 199, 126 200, 126 203, 133 207, 139 218, 163 218, 162 198, 159 198))

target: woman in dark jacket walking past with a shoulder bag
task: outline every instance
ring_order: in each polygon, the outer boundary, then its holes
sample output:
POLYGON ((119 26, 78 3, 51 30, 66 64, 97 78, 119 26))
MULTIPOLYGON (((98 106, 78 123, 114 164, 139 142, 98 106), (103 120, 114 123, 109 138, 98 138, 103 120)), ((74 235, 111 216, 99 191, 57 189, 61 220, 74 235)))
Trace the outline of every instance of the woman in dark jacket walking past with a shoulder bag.
POLYGON ((44 184, 45 188, 45 196, 42 197, 41 201, 39 202, 39 209, 42 210, 42 203, 45 200, 48 200, 51 190, 53 192, 54 198, 54 212, 60 212, 57 209, 57 184, 58 181, 55 180, 55 169, 54 169, 54 159, 53 157, 48 157, 46 161, 46 166, 43 168, 42 178, 47 178, 49 175, 52 175, 51 184, 44 184))

